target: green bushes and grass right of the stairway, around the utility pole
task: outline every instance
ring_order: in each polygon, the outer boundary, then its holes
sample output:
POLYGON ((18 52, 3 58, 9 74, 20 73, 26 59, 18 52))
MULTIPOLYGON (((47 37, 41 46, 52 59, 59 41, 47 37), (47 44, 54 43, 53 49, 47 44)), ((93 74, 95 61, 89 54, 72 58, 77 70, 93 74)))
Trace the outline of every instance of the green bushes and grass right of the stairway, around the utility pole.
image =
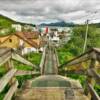
MULTIPOLYGON (((63 64, 83 53, 85 33, 86 33, 85 25, 77 26, 73 28, 71 33, 72 34, 71 40, 64 46, 58 48, 58 56, 59 56, 60 64, 63 64)), ((100 28, 96 27, 95 25, 90 25, 88 30, 86 51, 90 50, 93 47, 100 48, 100 28)), ((81 67, 83 68, 84 66, 81 67)), ((76 68, 77 70, 77 66, 74 66, 74 68, 76 68)), ((63 70, 63 68, 61 70, 63 70)), ((65 73, 60 73, 60 74, 65 75, 65 73)), ((74 75, 70 74, 67 76, 74 79, 79 79, 82 85, 84 85, 85 76, 75 75, 75 74, 74 75)), ((100 86, 95 85, 95 89, 100 95, 100 86)))

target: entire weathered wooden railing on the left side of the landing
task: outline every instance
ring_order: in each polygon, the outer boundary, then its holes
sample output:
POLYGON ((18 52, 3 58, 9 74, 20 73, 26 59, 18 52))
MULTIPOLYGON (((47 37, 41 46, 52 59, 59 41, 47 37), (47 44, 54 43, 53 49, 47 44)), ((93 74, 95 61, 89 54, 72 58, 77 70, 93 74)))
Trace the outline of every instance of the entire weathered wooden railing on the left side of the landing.
POLYGON ((11 100, 14 93, 17 91, 18 81, 16 79, 16 76, 39 74, 39 72, 35 72, 35 71, 22 71, 16 69, 14 67, 13 60, 28 66, 32 66, 33 69, 36 68, 36 65, 24 59, 21 55, 17 54, 14 50, 0 48, 0 67, 4 66, 7 71, 6 74, 0 78, 0 93, 2 93, 2 91, 5 89, 5 87, 8 84, 10 85, 10 88, 8 92, 5 94, 3 100, 11 100))

